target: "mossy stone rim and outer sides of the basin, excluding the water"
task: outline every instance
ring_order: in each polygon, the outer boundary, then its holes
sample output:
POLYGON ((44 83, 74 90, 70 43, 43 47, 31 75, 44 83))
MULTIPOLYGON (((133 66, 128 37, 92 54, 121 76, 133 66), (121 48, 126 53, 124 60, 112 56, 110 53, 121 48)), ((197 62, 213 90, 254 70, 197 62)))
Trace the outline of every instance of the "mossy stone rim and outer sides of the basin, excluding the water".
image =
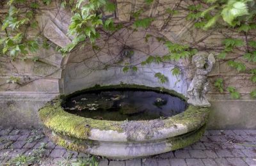
MULTIPOLYGON (((131 88, 131 86, 127 87, 131 88)), ((108 88, 124 88, 124 85, 97 86, 89 90, 108 88)), ((182 95, 168 89, 145 86, 133 88, 161 90, 182 98, 182 95)), ((60 146, 108 158, 138 158, 188 146, 200 139, 209 116, 208 109, 189 105, 184 112, 167 119, 149 121, 90 119, 70 114, 62 109, 61 104, 65 102, 65 98, 72 95, 74 94, 60 96, 40 109, 40 119, 44 124, 45 134, 60 146)))

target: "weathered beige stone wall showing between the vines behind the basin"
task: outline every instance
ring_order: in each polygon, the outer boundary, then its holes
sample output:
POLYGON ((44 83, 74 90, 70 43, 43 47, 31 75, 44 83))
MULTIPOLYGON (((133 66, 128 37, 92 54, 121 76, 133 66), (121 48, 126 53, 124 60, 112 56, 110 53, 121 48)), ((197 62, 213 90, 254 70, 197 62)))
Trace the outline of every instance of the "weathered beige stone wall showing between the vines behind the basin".
MULTIPOLYGON (((143 6, 142 1, 117 1, 116 22, 128 22, 131 15, 129 11, 138 10, 136 6, 143 6), (125 5, 124 5, 125 3, 125 5), (130 5, 131 4, 131 5, 130 5)), ((168 89, 174 89, 186 96, 186 89, 193 78, 194 68, 189 59, 180 62, 170 62, 164 64, 150 64, 138 66, 138 71, 124 73, 125 63, 138 64, 144 61, 149 54, 163 56, 166 53, 166 47, 154 38, 145 41, 145 34, 154 36, 164 36, 168 40, 196 46, 200 51, 206 53, 212 52, 218 54, 223 48, 221 40, 225 36, 239 36, 239 34, 227 29, 214 29, 202 31, 196 29, 195 22, 188 21, 184 16, 188 11, 182 10, 184 6, 191 4, 190 1, 165 1, 164 6, 152 4, 148 8, 147 15, 159 15, 158 19, 152 23, 152 26, 146 31, 139 29, 138 32, 120 31, 115 33, 108 45, 104 45, 104 35, 97 41, 102 50, 97 52, 98 56, 92 50, 92 47, 75 49, 67 56, 63 57, 54 49, 40 49, 38 53, 31 54, 31 57, 38 56, 39 61, 20 61, 17 59, 12 62, 5 57, 0 57, 0 125, 28 127, 38 126, 37 111, 45 102, 54 98, 54 96, 64 93, 69 94, 95 84, 145 84, 147 86, 163 86, 168 89), (181 6, 181 8, 179 8, 181 6), (168 16, 163 15, 164 8, 172 8, 180 11, 169 22, 163 19, 168 16), (128 35, 129 34, 129 35, 128 35), (120 56, 124 43, 134 50, 131 57, 120 56), (119 56, 118 56, 119 55, 119 56), (100 61, 99 61, 100 58, 100 61), (113 62, 119 62, 114 65, 113 62), (170 70, 174 66, 179 66, 181 75, 174 77, 170 70), (160 84, 154 77, 157 72, 164 73, 168 77, 168 82, 160 84), (22 86, 18 84, 7 84, 6 80, 11 76, 19 77, 22 86), (179 80, 179 81, 177 81, 179 80)), ((52 43, 64 47, 71 42, 72 37, 68 37, 67 27, 70 20, 70 11, 58 8, 52 4, 52 10, 43 10, 42 15, 38 15, 40 31, 52 43)), ((1 13, 0 13, 1 14, 1 13)), ((241 50, 234 50, 232 56, 241 54, 241 50)), ((231 55, 230 55, 231 56, 231 55)), ((227 57, 227 59, 229 56, 227 57)), ((255 100, 251 99, 249 93, 255 88, 255 84, 248 79, 249 74, 237 73, 236 70, 227 65, 227 59, 217 61, 214 70, 209 75, 211 80, 211 91, 208 96, 212 104, 211 117, 209 119, 209 128, 228 129, 228 128, 256 128, 255 100), (225 86, 232 85, 241 93, 241 99, 231 100, 230 95, 225 91, 218 93, 213 83, 217 78, 225 81, 225 86)), ((252 66, 246 63, 247 66, 252 66)))

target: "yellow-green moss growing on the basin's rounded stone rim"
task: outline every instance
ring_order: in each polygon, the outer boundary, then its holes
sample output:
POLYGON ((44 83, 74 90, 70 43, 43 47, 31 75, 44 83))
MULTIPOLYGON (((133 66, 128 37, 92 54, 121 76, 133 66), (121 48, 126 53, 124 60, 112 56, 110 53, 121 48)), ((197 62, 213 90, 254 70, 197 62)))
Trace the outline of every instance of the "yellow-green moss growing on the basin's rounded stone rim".
MULTIPOLYGON (((84 93, 86 91, 100 90, 100 89, 120 89, 120 88, 137 88, 137 89, 147 89, 147 90, 162 90, 164 93, 179 96, 185 100, 184 96, 176 93, 175 91, 168 89, 161 89, 160 87, 147 87, 147 86, 136 86, 136 85, 117 85, 117 86, 95 86, 83 91, 70 94, 68 96, 58 96, 51 102, 47 103, 45 107, 40 109, 39 116, 44 125, 51 128, 54 132, 61 133, 63 135, 68 135, 70 137, 76 137, 78 139, 87 139, 90 136, 90 131, 92 129, 99 130, 113 130, 117 132, 124 132, 122 129, 123 121, 106 121, 97 120, 86 117, 76 116, 65 112, 62 109, 61 103, 65 101, 65 98, 70 98, 71 96, 77 95, 79 93, 84 93)), ((195 130, 195 128, 200 128, 205 124, 205 120, 209 116, 209 109, 198 108, 189 105, 188 109, 184 112, 177 114, 175 116, 169 117, 168 119, 163 119, 163 128, 176 127, 176 124, 184 124, 188 127, 188 132, 195 130)), ((140 121, 141 123, 148 123, 148 121, 140 121)), ((160 130, 161 128, 159 128, 160 130)))

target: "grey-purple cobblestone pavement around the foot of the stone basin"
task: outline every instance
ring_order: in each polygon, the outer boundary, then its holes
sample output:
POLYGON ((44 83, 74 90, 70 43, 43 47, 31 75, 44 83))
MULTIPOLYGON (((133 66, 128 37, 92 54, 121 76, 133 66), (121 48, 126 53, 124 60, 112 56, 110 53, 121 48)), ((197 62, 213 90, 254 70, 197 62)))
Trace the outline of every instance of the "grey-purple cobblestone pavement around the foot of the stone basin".
MULTIPOLYGON (((12 163, 17 156, 36 158, 35 149, 42 149, 36 165, 70 165, 79 158, 88 158, 56 146, 40 129, 17 130, 0 127, 0 165, 12 163), (41 147, 40 147, 41 146, 41 147), (33 150, 34 149, 34 150, 33 150), (33 152, 34 151, 34 152, 33 152)), ((89 156, 90 157, 90 156, 89 156)), ((150 158, 113 161, 99 158, 99 165, 256 165, 256 130, 207 130, 200 142, 189 147, 150 158)))

